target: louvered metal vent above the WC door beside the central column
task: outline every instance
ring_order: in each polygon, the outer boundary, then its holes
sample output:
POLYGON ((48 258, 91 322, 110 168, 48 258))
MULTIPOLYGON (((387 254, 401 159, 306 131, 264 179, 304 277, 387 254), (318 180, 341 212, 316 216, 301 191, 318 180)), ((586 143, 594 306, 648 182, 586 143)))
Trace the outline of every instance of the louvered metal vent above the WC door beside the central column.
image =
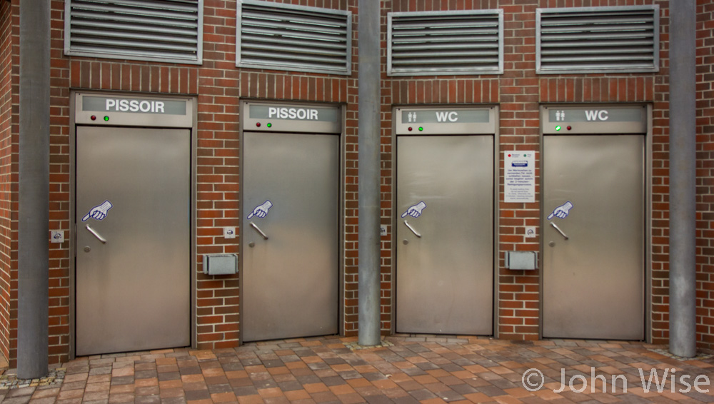
POLYGON ((388 74, 503 73, 503 11, 388 14, 388 74))

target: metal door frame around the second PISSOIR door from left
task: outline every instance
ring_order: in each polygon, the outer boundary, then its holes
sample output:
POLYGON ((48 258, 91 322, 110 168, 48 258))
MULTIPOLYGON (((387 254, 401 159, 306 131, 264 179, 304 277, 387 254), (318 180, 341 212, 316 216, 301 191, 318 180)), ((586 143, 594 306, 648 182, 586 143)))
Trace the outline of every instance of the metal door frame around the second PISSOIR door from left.
MULTIPOLYGON (((338 116, 339 116, 339 122, 336 124, 339 126, 339 130, 336 131, 335 133, 326 133, 323 131, 309 131, 308 128, 310 127, 309 125, 306 125, 305 123, 298 122, 296 125, 296 130, 294 131, 278 131, 276 132, 281 132, 281 133, 321 133, 321 134, 331 134, 333 136, 339 136, 339 151, 338 151, 338 158, 340 159, 339 161, 339 172, 338 172, 338 234, 339 234, 339 240, 338 240, 338 302, 337 302, 337 330, 339 335, 345 335, 345 295, 344 295, 344 284, 345 284, 345 193, 346 193, 346 188, 345 188, 345 176, 346 176, 346 155, 347 155, 347 149, 345 147, 346 145, 346 131, 345 131, 345 122, 347 119, 347 108, 344 104, 338 104, 338 103, 313 103, 313 102, 305 102, 305 101, 289 101, 289 100, 265 100, 265 99, 241 99, 241 103, 239 106, 239 113, 240 113, 240 120, 238 122, 238 148, 240 149, 240 160, 241 163, 238 167, 238 176, 241 178, 240 181, 240 187, 238 189, 238 193, 240 195, 241 199, 241 206, 243 204, 243 186, 245 181, 243 181, 243 168, 244 168, 244 161, 245 159, 243 158, 243 153, 245 153, 245 149, 243 148, 243 134, 246 132, 246 116, 248 114, 246 113, 246 106, 248 106, 249 103, 259 103, 259 104, 270 104, 273 106, 296 106, 296 107, 304 107, 304 108, 338 108, 338 116)), ((256 121, 256 119, 250 119, 250 123, 254 124, 253 122, 256 121)), ((267 120, 266 120, 267 121, 267 120)), ((328 125, 324 125, 323 123, 318 123, 319 128, 326 128, 328 125)), ((248 128, 248 132, 251 132, 251 130, 248 128)), ((266 131, 265 128, 263 128, 261 131, 266 131)), ((241 211, 241 206, 238 207, 238 215, 240 216, 239 220, 239 226, 238 226, 238 290, 243 291, 243 233, 245 231, 245 226, 243 226, 246 223, 245 215, 241 211)), ((238 344, 243 345, 243 293, 241 292, 238 296, 238 344)))

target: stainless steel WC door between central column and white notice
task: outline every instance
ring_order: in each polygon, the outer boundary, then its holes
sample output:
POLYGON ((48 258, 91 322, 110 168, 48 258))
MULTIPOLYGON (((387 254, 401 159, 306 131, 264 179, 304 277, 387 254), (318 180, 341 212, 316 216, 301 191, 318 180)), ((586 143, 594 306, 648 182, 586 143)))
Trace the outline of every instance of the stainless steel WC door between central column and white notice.
POLYGON ((493 136, 398 136, 396 329, 493 333, 493 136))

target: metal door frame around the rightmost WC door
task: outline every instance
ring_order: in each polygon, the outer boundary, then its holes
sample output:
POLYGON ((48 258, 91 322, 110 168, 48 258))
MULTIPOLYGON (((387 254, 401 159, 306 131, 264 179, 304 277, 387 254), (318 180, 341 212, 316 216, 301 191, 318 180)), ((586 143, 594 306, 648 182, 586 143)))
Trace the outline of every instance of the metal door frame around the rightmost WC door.
MULTIPOLYGON (((540 162, 539 162, 539 168, 540 168, 540 176, 538 178, 538 189, 540 189, 540 196, 538 196, 538 202, 540 203, 540 218, 543 218, 543 186, 544 186, 544 181, 543 181, 543 164, 544 164, 544 159, 543 159, 543 137, 545 136, 545 130, 544 130, 544 125, 545 121, 543 119, 543 116, 545 116, 545 110, 547 108, 623 108, 623 107, 640 107, 640 108, 645 108, 646 109, 646 116, 645 116, 645 131, 639 131, 637 129, 633 129, 630 126, 625 127, 625 130, 615 132, 611 131, 612 129, 610 128, 611 123, 586 123, 585 126, 588 126, 587 133, 580 133, 580 134, 596 134, 596 135, 610 135, 610 136, 617 136, 618 134, 620 135, 640 135, 645 137, 645 151, 644 151, 644 173, 645 173, 645 184, 644 184, 644 191, 645 191, 645 200, 643 203, 645 204, 645 228, 643 229, 644 231, 644 239, 645 239, 645 246, 643 248, 644 254, 645 254, 645 259, 644 259, 644 264, 645 268, 642 268, 644 271, 644 278, 643 278, 643 286, 645 288, 644 291, 644 308, 645 312, 643 313, 643 316, 645 318, 645 342, 651 343, 652 342, 652 318, 651 318, 651 313, 652 313, 652 104, 651 103, 543 103, 540 104, 539 112, 540 112, 540 139, 539 139, 539 153, 540 153, 540 162), (610 131, 597 131, 597 125, 604 125, 605 128, 610 129, 610 131)), ((568 133, 567 131, 558 133, 558 134, 550 134, 548 136, 578 136, 578 133, 568 133)), ((543 223, 540 223, 540 234, 538 235, 540 238, 540 259, 543 259, 543 251, 545 248, 545 238, 543 237, 543 229, 545 228, 545 225, 543 223)), ((545 297, 543 294, 543 263, 540 263, 540 269, 538 270, 538 339, 543 339, 543 298, 545 297)))

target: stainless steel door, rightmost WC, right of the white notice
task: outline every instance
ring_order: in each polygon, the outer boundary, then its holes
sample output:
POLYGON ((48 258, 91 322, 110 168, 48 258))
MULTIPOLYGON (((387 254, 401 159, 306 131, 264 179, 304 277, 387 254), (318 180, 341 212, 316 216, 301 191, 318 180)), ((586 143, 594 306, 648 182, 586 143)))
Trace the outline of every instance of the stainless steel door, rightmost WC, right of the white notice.
POLYGON ((543 138, 543 336, 644 338, 644 136, 543 138))

